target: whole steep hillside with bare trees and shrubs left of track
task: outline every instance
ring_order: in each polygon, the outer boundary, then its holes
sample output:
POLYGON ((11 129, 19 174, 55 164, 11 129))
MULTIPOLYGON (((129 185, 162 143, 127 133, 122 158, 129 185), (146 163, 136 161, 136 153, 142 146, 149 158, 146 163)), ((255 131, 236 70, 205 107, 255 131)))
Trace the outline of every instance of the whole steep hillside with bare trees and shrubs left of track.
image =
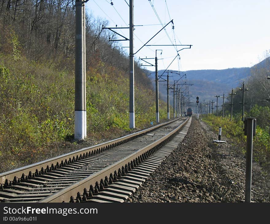
MULTIPOLYGON (((0 172, 66 153, 74 145, 73 4, 72 0, 0 4, 0 172)), ((86 16, 91 143, 129 131, 129 59, 118 42, 109 42, 114 36, 102 30, 107 24, 86 16)), ((135 125, 143 128, 155 121, 155 94, 137 62, 135 74, 135 125)), ((166 118, 165 108, 160 110, 161 120, 166 118)))

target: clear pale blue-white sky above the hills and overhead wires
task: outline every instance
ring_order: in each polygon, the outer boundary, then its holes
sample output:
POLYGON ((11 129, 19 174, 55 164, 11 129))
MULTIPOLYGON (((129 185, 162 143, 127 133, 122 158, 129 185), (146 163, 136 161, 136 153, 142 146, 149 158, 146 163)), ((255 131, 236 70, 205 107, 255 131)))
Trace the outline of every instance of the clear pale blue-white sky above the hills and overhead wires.
MULTIPOLYGON (((112 0, 113 6, 110 2, 89 0, 87 13, 107 19, 110 27, 127 27, 129 0, 112 0)), ((134 53, 162 29, 154 10, 163 24, 173 19, 175 29, 169 24, 166 31, 174 44, 193 45, 179 51, 180 60, 178 57, 170 70, 251 67, 263 60, 270 49, 270 0, 134 0, 134 25, 144 25, 135 27, 134 53)), ((129 38, 128 29, 117 31, 129 38)), ((148 44, 172 44, 168 36, 163 30, 148 44)), ((119 44, 129 46, 128 41, 119 44)), ((156 49, 163 50, 162 55, 157 52, 158 70, 166 69, 177 55, 175 47, 144 47, 135 57, 153 58, 156 49)), ((129 48, 125 50, 129 52, 129 48)), ((149 62, 155 64, 154 60, 149 62)))

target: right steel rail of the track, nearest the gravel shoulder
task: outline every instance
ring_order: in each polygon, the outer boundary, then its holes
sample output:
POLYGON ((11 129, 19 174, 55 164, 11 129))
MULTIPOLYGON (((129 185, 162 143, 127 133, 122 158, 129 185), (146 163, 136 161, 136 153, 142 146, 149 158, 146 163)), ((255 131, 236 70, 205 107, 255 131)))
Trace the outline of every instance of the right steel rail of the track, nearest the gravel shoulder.
POLYGON ((135 153, 132 153, 131 155, 123 158, 122 160, 119 160, 118 162, 109 165, 106 168, 103 168, 99 170, 98 172, 95 172, 94 174, 91 174, 90 176, 79 180, 78 182, 71 184, 64 189, 57 191, 56 193, 38 201, 41 203, 47 203, 47 202, 53 202, 53 203, 60 203, 60 202, 68 202, 70 199, 70 196, 75 196, 77 192, 82 192, 84 188, 88 188, 90 185, 95 186, 95 183, 101 179, 103 179, 105 176, 110 176, 110 173, 114 173, 114 171, 117 171, 118 168, 122 168, 122 166, 125 166, 128 164, 128 162, 133 161, 138 158, 138 156, 141 156, 142 154, 146 153, 147 151, 159 147, 161 144, 168 141, 170 137, 173 137, 174 134, 176 134, 179 129, 183 128, 186 123, 189 121, 190 117, 186 119, 182 124, 180 124, 176 129, 165 135, 164 137, 156 140, 155 142, 149 144, 148 146, 145 146, 144 148, 138 150, 135 153))

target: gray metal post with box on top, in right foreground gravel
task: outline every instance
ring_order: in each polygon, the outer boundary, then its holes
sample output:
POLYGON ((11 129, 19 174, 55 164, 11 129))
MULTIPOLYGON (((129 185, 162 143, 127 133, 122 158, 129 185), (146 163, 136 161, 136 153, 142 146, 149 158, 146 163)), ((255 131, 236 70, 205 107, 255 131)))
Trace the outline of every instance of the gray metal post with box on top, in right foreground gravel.
POLYGON ((252 147, 253 147, 253 121, 246 118, 247 146, 246 146, 246 176, 245 176, 245 202, 251 201, 251 174, 252 174, 252 147))

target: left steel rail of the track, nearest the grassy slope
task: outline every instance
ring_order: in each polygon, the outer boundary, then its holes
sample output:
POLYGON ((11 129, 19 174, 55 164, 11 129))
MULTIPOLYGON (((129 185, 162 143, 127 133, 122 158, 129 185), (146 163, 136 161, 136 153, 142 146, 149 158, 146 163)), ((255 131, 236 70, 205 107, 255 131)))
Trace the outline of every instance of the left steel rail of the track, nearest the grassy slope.
POLYGON ((102 151, 104 151, 106 149, 110 149, 110 148, 113 148, 115 146, 121 145, 122 143, 126 143, 126 142, 128 142, 130 140, 133 140, 133 139, 137 138, 137 137, 141 137, 141 136, 147 134, 148 132, 150 132, 152 130, 155 130, 155 129, 160 128, 160 127, 165 126, 165 125, 168 125, 168 124, 170 124, 172 122, 175 122, 175 121, 177 121, 179 119, 181 119, 181 118, 174 119, 172 121, 165 122, 165 123, 153 126, 151 128, 148 128, 148 129, 136 132, 136 133, 132 133, 132 134, 129 134, 129 135, 126 135, 126 136, 123 136, 123 137, 120 137, 120 138, 117 138, 117 139, 114 139, 114 140, 111 140, 111 141, 107 141, 105 143, 101 143, 101 144, 98 144, 98 145, 86 147, 86 148, 79 149, 79 150, 76 150, 76 151, 73 151, 73 152, 70 152, 70 153, 66 153, 66 154, 63 154, 63 155, 60 155, 60 156, 50 158, 48 160, 43 160, 41 162, 37 162, 37 163, 30 164, 30 165, 27 165, 27 166, 24 166, 24 167, 21 167, 21 168, 17 168, 17 169, 13 169, 13 170, 10 170, 10 171, 7 171, 7 172, 0 173, 0 183, 4 184, 6 179, 12 181, 14 176, 20 177, 22 175, 22 173, 24 173, 25 175, 28 175, 29 171, 34 173, 36 171, 36 169, 41 170, 42 167, 46 168, 47 166, 51 167, 52 164, 54 164, 54 165, 57 164, 57 163, 60 164, 61 161, 69 160, 69 158, 72 158, 73 156, 76 158, 77 156, 80 157, 80 156, 82 156, 83 154, 86 154, 86 153, 91 154, 91 153, 94 153, 94 152, 95 153, 96 152, 97 153, 102 152, 102 151))

